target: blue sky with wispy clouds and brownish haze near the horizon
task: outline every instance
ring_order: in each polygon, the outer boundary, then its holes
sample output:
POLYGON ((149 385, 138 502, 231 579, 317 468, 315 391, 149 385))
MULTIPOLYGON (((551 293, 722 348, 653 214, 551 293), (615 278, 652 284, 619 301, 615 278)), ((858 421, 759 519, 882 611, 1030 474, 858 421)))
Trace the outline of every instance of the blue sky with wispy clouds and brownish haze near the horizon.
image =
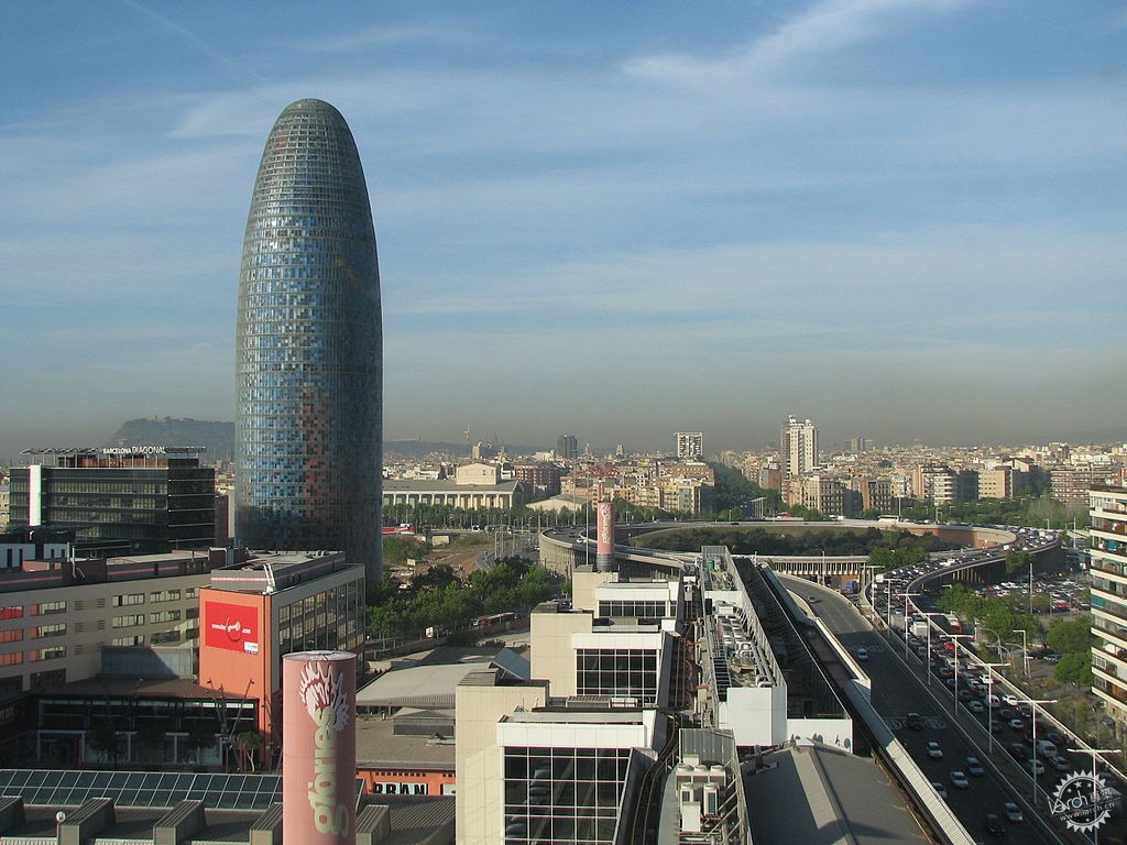
POLYGON ((367 176, 389 439, 1127 429, 1120 2, 7 2, 0 78, 0 457, 233 419, 303 97, 367 176))

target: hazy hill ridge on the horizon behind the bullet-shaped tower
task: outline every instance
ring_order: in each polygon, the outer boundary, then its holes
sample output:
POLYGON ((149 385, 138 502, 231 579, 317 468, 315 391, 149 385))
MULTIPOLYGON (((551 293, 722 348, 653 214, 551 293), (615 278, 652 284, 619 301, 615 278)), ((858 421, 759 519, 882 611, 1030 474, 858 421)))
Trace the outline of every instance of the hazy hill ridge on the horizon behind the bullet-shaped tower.
MULTIPOLYGON (((153 417, 124 422, 105 444, 107 446, 206 446, 207 463, 230 461, 234 455, 234 422, 221 420, 175 419, 153 417)), ((509 454, 531 454, 531 446, 509 447, 509 454)), ((464 443, 432 441, 388 441, 383 444, 384 460, 421 460, 428 455, 467 457, 464 443)))

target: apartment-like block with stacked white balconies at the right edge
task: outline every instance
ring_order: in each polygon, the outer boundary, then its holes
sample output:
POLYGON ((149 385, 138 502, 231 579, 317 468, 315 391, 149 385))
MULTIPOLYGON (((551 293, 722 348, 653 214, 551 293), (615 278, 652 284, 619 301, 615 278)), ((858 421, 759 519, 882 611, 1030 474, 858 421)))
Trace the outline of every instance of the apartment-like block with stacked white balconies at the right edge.
POLYGON ((1127 488, 1090 490, 1092 692, 1127 730, 1127 488))

